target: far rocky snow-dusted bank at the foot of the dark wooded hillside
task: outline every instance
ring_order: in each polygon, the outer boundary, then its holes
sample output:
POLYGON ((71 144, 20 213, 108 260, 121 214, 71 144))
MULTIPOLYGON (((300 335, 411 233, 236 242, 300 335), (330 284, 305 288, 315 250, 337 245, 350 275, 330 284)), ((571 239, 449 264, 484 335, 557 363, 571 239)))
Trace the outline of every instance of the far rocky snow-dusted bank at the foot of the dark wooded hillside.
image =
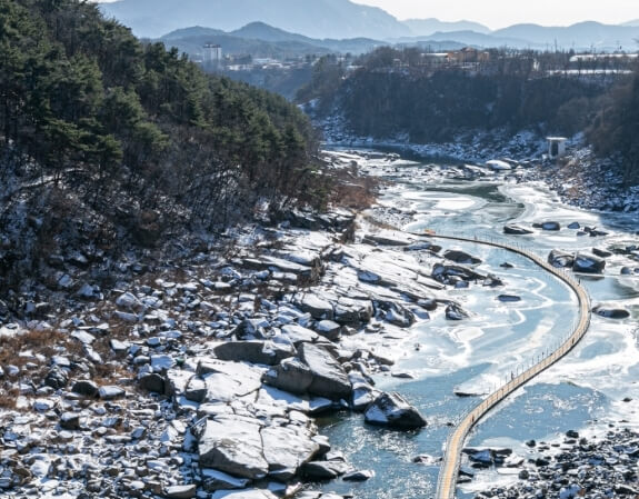
POLYGON ((613 158, 601 159, 585 144, 582 134, 567 141, 567 156, 558 161, 546 159, 548 143, 532 131, 512 134, 508 130, 469 132, 452 142, 417 144, 405 138, 373 140, 351 137, 343 123, 332 119, 321 123, 327 141, 338 147, 387 148, 429 159, 445 159, 485 166, 487 161, 505 159, 510 166, 501 171, 516 181, 541 181, 557 192, 566 203, 588 210, 639 210, 639 186, 625 186, 616 170, 613 158))

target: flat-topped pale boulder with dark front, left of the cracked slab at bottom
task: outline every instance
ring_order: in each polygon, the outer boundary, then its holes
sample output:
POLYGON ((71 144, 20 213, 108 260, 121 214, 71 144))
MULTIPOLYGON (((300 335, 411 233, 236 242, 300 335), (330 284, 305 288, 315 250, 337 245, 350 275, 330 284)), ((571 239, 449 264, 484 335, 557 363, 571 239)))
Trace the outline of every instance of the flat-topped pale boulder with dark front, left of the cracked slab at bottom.
POLYGON ((261 427, 257 420, 219 416, 206 421, 198 440, 202 468, 214 468, 241 478, 267 476, 269 463, 262 452, 261 427))

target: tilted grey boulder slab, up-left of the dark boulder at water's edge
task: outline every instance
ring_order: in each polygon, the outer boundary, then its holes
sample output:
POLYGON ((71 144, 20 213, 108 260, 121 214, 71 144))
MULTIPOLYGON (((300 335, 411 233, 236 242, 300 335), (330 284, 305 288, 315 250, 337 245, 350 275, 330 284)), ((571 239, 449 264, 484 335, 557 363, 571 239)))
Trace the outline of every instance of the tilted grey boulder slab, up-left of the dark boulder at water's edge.
POLYGON ((331 400, 350 398, 352 387, 348 376, 329 350, 318 345, 302 343, 299 356, 312 373, 309 393, 331 400))

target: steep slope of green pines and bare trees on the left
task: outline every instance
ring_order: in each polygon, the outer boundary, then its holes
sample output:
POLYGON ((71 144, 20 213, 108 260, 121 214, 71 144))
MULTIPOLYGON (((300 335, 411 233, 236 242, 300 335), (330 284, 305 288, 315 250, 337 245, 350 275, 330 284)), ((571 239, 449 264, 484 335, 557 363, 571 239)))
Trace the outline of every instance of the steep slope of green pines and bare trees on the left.
POLYGON ((3 269, 37 267, 73 234, 93 252, 152 247, 322 202, 294 106, 204 76, 83 1, 0 0, 0 127, 3 269))

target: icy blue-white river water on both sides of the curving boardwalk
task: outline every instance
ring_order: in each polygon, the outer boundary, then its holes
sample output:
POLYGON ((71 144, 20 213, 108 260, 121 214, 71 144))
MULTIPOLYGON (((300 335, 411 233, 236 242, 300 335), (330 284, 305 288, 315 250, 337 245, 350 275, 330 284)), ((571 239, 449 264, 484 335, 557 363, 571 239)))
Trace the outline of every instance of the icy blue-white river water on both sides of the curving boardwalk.
MULTIPOLYGON (((413 213, 402 229, 421 232, 510 238, 547 257, 551 249, 588 251, 615 244, 639 243, 639 217, 602 214, 567 207, 540 184, 517 184, 508 178, 485 181, 449 178, 446 166, 416 163, 402 159, 363 159, 358 162, 371 174, 390 181, 381 198, 388 208, 413 213), (556 220, 559 232, 536 231, 531 236, 503 236, 505 223, 529 227, 532 222, 556 220), (579 237, 567 229, 571 222, 610 232, 605 238, 579 237)), ((445 248, 459 248, 482 259, 479 270, 499 276, 502 289, 472 287, 453 290, 472 317, 447 321, 441 312, 417 326, 406 345, 405 356, 393 367, 410 372, 412 379, 388 375, 376 377, 383 390, 396 390, 413 403, 428 420, 418 432, 396 432, 363 423, 361 415, 337 415, 321 420, 322 432, 336 450, 342 451, 358 469, 372 469, 376 477, 363 483, 332 481, 323 490, 352 493, 361 499, 429 498, 433 496, 439 462, 412 462, 416 456, 442 456, 442 446, 457 421, 495 386, 571 331, 576 299, 569 289, 523 257, 473 243, 437 241, 445 248), (511 269, 500 267, 509 262, 511 269), (518 295, 519 302, 501 303, 499 293, 518 295), (417 350, 415 345, 419 343, 417 350), (455 392, 472 393, 458 397, 455 392)), ((622 266, 639 267, 626 257, 608 259, 605 277, 581 277, 592 302, 622 305, 630 309, 626 320, 597 316, 585 340, 562 361, 518 390, 473 430, 467 445, 509 447, 525 458, 533 451, 525 441, 560 441, 568 429, 588 435, 602 432, 609 423, 628 421, 639 426, 639 275, 620 276, 622 266), (632 399, 625 402, 625 398, 632 399)), ((478 472, 458 497, 472 497, 478 490, 512 476, 495 470, 478 472)))

